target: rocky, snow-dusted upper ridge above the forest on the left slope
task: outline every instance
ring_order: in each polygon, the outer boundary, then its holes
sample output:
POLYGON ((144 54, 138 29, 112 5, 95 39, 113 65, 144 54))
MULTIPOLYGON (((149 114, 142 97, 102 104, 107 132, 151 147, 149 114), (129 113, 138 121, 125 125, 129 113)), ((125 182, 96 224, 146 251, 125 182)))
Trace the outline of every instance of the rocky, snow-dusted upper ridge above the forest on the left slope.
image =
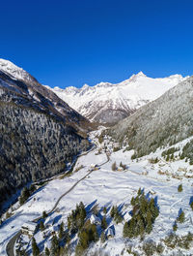
POLYGON ((17 93, 17 102, 21 101, 21 98, 23 100, 23 96, 26 101, 27 97, 31 105, 36 105, 36 108, 39 107, 43 111, 62 118, 77 130, 83 131, 85 127, 90 127, 90 123, 85 117, 71 109, 66 102, 53 91, 42 86, 28 72, 9 60, 0 59, 0 88, 5 87, 7 90, 17 93))

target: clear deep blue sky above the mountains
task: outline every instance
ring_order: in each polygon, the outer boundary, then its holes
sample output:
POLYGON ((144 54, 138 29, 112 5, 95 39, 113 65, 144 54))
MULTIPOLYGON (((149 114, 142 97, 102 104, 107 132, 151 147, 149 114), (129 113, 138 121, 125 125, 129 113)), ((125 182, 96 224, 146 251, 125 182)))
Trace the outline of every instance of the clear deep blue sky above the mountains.
POLYGON ((193 74, 192 0, 10 0, 0 9, 0 57, 43 84, 193 74))

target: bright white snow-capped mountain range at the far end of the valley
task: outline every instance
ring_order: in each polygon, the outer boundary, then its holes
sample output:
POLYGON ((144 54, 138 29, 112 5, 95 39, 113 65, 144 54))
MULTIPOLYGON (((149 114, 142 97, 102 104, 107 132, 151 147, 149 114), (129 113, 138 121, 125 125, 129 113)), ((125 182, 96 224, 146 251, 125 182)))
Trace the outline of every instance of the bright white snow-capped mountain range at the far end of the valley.
POLYGON ((180 75, 152 79, 139 72, 116 84, 100 82, 95 86, 85 84, 82 88, 54 87, 52 91, 90 120, 113 124, 155 100, 182 80, 184 78, 180 75))

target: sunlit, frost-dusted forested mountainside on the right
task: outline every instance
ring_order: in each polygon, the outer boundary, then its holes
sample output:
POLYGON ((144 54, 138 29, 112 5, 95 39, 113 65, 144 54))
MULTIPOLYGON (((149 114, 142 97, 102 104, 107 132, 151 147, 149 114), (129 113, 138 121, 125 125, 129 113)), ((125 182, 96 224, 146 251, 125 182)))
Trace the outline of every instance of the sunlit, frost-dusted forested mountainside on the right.
POLYGON ((109 130, 119 142, 136 150, 136 156, 158 146, 175 144, 193 135, 193 77, 180 82, 109 130))

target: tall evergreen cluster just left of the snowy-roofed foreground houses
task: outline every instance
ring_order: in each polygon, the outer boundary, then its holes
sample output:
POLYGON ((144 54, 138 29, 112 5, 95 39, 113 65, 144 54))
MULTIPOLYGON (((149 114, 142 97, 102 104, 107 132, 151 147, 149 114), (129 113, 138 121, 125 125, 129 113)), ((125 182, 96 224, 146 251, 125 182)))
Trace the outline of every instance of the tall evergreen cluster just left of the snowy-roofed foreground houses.
POLYGON ((68 216, 68 229, 71 234, 77 233, 83 227, 86 215, 84 204, 80 202, 68 216))

